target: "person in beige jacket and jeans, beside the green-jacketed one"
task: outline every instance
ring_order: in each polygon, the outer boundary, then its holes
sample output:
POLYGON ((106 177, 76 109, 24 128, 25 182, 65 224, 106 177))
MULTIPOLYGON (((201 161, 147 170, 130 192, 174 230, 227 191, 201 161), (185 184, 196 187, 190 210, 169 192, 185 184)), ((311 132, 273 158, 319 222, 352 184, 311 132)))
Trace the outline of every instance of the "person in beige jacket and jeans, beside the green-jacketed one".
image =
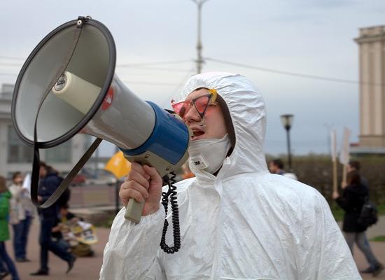
POLYGON ((9 190, 10 199, 10 224, 13 226, 13 251, 17 262, 29 262, 27 259, 27 241, 34 209, 29 192, 22 188, 22 174, 15 172, 9 190))

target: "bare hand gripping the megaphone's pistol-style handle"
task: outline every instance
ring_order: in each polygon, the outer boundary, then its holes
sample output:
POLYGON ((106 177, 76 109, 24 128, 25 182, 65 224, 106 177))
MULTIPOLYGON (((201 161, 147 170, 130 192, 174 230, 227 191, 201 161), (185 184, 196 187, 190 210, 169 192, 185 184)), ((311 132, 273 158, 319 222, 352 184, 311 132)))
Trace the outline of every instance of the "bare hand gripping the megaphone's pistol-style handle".
POLYGON ((155 168, 131 163, 131 171, 120 187, 119 196, 126 207, 125 218, 139 223, 141 216, 158 211, 162 195, 162 178, 155 168))

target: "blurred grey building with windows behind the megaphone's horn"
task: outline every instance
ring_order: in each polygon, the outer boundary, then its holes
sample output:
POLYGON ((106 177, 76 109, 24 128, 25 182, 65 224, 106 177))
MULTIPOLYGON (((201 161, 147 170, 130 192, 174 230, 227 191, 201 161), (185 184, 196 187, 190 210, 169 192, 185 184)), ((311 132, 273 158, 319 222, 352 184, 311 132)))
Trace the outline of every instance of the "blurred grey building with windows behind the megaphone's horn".
MULTIPOLYGON (((13 85, 3 84, 0 91, 0 174, 8 178, 15 171, 31 172, 33 160, 33 149, 23 144, 13 129, 12 95, 13 85)), ((57 147, 41 149, 41 160, 59 172, 68 172, 90 146, 90 141, 90 136, 78 134, 57 147)))

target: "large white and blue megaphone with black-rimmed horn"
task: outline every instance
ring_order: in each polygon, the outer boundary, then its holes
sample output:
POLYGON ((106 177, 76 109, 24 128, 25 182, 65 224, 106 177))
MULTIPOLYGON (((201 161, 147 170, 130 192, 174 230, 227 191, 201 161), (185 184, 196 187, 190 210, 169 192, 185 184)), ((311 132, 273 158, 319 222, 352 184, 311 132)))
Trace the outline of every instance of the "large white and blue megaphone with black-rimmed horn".
MULTIPOLYGON (((151 165, 161 176, 186 162, 188 127, 130 91, 114 74, 115 64, 109 29, 90 17, 66 22, 38 43, 22 66, 12 102, 15 130, 35 147, 35 158, 38 148, 82 132, 115 144, 127 160, 151 165)), ((125 217, 139 223, 143 205, 131 199, 125 217)))

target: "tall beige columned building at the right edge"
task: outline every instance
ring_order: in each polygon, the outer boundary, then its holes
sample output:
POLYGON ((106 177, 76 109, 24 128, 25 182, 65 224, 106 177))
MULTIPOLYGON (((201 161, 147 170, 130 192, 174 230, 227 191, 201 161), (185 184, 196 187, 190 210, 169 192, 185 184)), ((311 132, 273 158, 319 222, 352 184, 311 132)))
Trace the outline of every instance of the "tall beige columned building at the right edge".
POLYGON ((360 143, 352 153, 385 154, 385 25, 360 28, 360 143))

